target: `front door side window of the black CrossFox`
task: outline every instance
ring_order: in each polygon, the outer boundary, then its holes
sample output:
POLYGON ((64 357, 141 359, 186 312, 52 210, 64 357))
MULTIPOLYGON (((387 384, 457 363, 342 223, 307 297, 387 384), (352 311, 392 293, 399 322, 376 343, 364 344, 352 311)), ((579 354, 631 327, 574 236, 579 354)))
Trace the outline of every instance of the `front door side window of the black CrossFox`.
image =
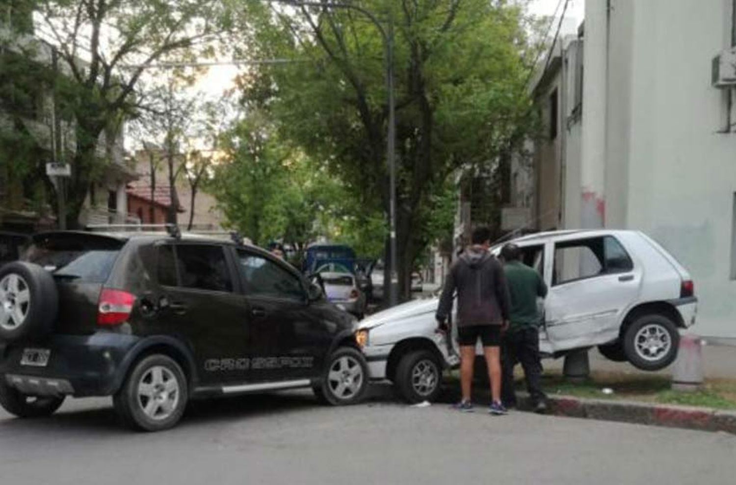
POLYGON ((275 261, 246 251, 238 251, 238 260, 247 294, 304 299, 300 279, 275 261))

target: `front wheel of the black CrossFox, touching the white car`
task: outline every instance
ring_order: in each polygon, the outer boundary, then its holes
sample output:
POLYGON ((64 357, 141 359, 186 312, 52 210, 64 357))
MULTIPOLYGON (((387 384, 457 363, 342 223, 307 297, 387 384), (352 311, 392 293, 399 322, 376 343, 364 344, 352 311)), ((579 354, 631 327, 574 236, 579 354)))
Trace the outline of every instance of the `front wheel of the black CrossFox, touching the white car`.
POLYGON ((347 406, 361 402, 368 380, 364 355, 353 347, 340 347, 330 355, 322 379, 312 390, 320 403, 347 406))

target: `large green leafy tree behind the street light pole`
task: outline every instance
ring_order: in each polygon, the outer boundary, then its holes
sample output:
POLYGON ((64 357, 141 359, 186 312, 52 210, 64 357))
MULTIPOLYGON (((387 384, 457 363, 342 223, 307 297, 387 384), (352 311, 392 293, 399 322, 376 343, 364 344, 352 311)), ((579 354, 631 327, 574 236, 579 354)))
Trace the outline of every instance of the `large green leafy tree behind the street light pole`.
MULTIPOLYGON (((428 244, 433 198, 461 166, 486 164, 530 126, 530 57, 523 7, 510 1, 367 0, 394 26, 397 93, 397 247, 400 290, 428 244)), ((268 66, 284 137, 326 160, 358 205, 389 208, 383 47, 375 26, 347 9, 277 12, 261 51, 308 60, 268 66), (274 35, 279 29, 281 37, 274 35), (287 40, 284 40, 287 39, 287 40)))

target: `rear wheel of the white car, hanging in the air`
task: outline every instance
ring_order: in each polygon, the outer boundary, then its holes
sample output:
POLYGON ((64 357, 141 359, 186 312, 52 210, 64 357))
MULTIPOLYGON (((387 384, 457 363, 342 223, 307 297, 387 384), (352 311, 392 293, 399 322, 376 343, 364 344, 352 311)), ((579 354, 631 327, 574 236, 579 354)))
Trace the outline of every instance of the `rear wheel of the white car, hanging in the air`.
POLYGON ((659 370, 672 364, 677 357, 679 349, 680 334, 675 323, 667 316, 661 314, 647 314, 634 319, 634 322, 626 328, 623 336, 623 351, 629 362, 637 369, 659 370), (657 336, 659 341, 665 342, 666 348, 662 350, 657 358, 645 358, 646 337, 657 336))

